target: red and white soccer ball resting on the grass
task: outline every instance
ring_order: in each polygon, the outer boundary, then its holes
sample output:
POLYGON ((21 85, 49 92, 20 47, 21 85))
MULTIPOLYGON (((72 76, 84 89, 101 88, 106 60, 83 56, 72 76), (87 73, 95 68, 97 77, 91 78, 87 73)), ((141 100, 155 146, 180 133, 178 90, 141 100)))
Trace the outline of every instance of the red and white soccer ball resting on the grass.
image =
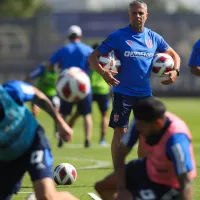
POLYGON ((77 179, 77 172, 73 165, 61 163, 54 169, 53 176, 57 185, 71 185, 77 179))

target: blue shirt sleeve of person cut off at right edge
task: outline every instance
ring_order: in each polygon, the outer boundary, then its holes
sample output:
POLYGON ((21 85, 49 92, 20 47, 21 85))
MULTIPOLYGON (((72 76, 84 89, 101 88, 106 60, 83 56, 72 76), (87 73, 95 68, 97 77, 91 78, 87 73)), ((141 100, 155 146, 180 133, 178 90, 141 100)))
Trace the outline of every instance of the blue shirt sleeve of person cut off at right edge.
POLYGON ((200 66, 200 40, 198 40, 193 46, 188 65, 190 67, 200 66))

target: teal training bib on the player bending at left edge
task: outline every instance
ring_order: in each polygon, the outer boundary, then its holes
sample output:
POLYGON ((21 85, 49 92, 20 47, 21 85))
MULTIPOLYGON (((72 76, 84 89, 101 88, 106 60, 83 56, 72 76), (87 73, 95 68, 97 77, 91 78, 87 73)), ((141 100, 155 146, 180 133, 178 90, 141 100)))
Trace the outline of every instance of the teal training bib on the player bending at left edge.
POLYGON ((20 102, 23 94, 17 88, 14 82, 5 87, 0 85, 0 160, 22 155, 32 144, 38 127, 33 115, 20 102))

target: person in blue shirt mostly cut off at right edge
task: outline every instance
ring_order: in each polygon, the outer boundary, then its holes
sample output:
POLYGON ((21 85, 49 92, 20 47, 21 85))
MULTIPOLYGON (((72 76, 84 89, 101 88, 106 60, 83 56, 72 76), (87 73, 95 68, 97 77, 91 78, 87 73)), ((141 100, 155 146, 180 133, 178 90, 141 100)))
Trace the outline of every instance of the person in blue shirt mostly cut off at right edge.
POLYGON ((193 46, 188 65, 192 74, 200 76, 200 40, 193 46))

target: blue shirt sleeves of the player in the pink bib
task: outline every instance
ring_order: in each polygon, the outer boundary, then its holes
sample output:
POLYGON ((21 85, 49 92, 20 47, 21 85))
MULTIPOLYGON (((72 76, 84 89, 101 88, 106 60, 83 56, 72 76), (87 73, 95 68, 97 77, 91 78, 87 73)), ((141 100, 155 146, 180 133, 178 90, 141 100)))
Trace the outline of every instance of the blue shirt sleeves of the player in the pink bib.
MULTIPOLYGON (((139 135, 134 122, 122 139, 124 146, 132 148, 138 141, 139 135)), ((166 155, 173 162, 176 174, 183 174, 191 171, 194 166, 190 155, 190 140, 184 133, 172 135, 166 145, 166 155)))

